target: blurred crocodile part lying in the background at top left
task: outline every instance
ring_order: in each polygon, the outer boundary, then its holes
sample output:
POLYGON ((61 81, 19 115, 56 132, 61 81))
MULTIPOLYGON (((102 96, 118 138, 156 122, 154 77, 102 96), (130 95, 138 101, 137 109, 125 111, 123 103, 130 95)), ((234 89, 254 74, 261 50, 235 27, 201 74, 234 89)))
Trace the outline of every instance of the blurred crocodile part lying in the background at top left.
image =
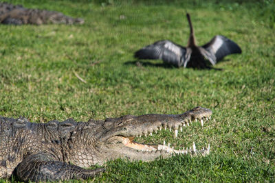
POLYGON ((22 5, 0 3, 0 23, 12 25, 41 25, 47 23, 83 24, 84 20, 65 16, 61 12, 28 9, 23 8, 22 5))

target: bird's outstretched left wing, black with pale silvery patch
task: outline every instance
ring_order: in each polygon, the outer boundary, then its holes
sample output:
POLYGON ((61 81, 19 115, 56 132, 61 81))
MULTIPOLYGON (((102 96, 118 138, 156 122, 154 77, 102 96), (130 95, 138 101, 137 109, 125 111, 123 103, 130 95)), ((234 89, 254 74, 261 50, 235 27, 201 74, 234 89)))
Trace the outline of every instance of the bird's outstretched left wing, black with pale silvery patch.
POLYGON ((186 48, 171 42, 170 40, 159 40, 153 45, 148 45, 135 52, 135 58, 139 59, 159 59, 181 66, 188 62, 190 56, 186 56, 186 48))

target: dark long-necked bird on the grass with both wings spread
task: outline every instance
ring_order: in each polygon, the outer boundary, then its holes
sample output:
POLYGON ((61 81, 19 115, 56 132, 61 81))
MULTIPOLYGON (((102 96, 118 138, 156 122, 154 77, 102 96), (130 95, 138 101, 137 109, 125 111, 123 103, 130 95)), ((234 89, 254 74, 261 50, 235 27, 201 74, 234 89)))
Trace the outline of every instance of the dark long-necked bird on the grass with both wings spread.
POLYGON ((170 40, 159 40, 152 45, 143 47, 135 52, 135 58, 163 60, 174 66, 192 68, 209 68, 225 56, 233 53, 241 53, 241 48, 236 42, 225 36, 214 36, 210 42, 199 47, 196 45, 195 34, 190 15, 186 14, 190 26, 190 36, 187 47, 177 45, 170 40))

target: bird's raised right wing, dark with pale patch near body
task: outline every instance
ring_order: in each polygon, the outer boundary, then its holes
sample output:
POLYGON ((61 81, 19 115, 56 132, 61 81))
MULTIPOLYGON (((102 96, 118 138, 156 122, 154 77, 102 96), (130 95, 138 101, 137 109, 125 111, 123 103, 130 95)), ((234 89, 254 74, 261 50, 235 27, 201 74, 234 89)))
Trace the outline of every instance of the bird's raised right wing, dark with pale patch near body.
POLYGON ((233 54, 241 53, 241 48, 236 42, 226 38, 225 36, 214 36, 210 42, 202 46, 210 52, 210 57, 217 63, 223 57, 233 54))

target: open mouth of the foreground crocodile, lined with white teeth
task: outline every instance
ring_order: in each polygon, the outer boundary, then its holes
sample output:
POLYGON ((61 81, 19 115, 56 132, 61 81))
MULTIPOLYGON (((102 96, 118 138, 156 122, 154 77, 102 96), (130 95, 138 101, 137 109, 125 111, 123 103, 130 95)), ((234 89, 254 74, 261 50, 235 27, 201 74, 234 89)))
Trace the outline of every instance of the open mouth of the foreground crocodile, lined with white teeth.
MULTIPOLYGON (((182 132, 183 127, 187 127, 190 125, 192 122, 199 122, 201 126, 203 126, 203 123, 208 121, 208 119, 211 119, 211 116, 208 117, 202 117, 201 119, 193 119, 192 121, 189 120, 187 122, 183 122, 181 125, 178 127, 169 127, 169 131, 171 132, 172 129, 174 130, 174 137, 177 138, 179 130, 182 132)), ((166 125, 160 125, 157 127, 157 129, 153 130, 153 132, 158 133, 160 130, 167 130, 166 125)), ((153 135, 153 132, 148 132, 148 133, 142 133, 142 135, 137 135, 137 136, 130 136, 130 137, 125 137, 125 136, 118 136, 120 138, 120 141, 122 144, 124 144, 126 147, 130 147, 132 149, 136 149, 137 151, 146 151, 146 152, 155 152, 155 151, 162 151, 165 152, 166 154, 201 154, 203 156, 206 156, 210 153, 210 144, 208 144, 208 147, 202 147, 202 149, 197 149, 195 143, 192 144, 192 147, 187 147, 187 148, 182 148, 182 149, 174 149, 174 147, 170 147, 170 143, 167 143, 164 141, 163 145, 146 145, 143 143, 137 143, 133 141, 135 138, 140 138, 142 136, 147 136, 153 135)))

